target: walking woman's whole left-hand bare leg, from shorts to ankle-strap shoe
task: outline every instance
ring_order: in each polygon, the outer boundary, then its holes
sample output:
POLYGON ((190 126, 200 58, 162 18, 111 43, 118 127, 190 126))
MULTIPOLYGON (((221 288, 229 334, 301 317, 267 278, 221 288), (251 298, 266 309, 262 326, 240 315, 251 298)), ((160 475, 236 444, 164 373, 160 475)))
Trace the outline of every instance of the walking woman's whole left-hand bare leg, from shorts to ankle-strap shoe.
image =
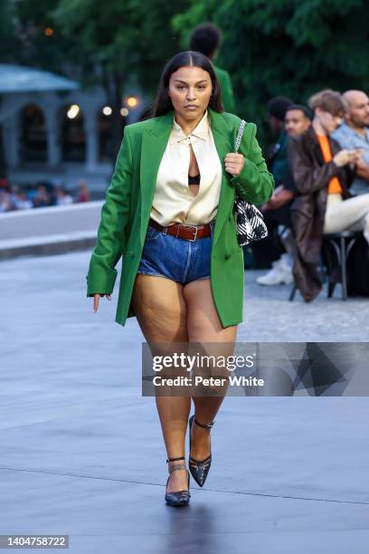
MULTIPOLYGON (((138 324, 148 344, 156 342, 187 343, 186 304, 183 285, 153 275, 138 273, 135 281, 132 305, 138 324)), ((167 354, 168 349, 163 352, 167 354)), ((185 433, 191 408, 190 396, 156 396, 156 407, 162 426, 168 458, 185 456, 185 433)), ((169 466, 175 463, 170 462, 169 466)), ((187 472, 178 470, 171 474, 168 492, 187 489, 187 472)))

